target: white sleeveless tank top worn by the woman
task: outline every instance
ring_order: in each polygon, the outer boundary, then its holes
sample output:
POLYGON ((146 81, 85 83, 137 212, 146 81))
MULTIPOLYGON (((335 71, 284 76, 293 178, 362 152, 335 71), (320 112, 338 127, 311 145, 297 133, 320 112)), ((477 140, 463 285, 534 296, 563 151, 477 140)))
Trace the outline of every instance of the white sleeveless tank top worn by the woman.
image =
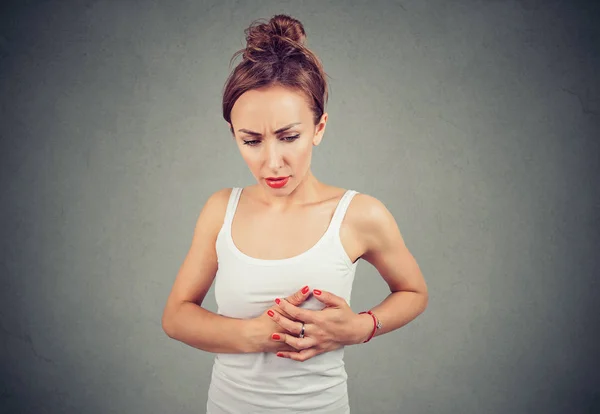
MULTIPOLYGON (((231 222, 242 188, 233 188, 223 226, 217 236, 218 270, 215 298, 220 315, 254 318, 308 285, 330 291, 348 304, 358 261, 344 250, 340 224, 357 194, 347 190, 339 201, 325 234, 297 256, 263 260, 247 256, 233 243, 231 222)), ((310 297, 301 307, 320 310, 310 297)), ((348 414, 348 378, 344 348, 299 362, 274 353, 216 354, 208 391, 208 414, 348 414)))

